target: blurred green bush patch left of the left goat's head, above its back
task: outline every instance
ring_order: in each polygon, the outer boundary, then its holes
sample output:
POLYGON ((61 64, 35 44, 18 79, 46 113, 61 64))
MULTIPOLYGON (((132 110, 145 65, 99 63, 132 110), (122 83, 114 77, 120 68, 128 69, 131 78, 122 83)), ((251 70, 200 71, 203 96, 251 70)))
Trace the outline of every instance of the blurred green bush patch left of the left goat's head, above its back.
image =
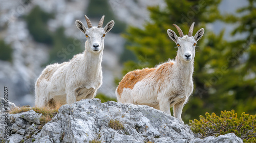
POLYGON ((28 30, 34 40, 48 44, 51 47, 50 59, 46 64, 62 63, 82 52, 81 45, 83 44, 74 43, 75 39, 67 37, 63 27, 57 28, 55 32, 48 29, 47 21, 50 18, 54 18, 54 14, 46 13, 38 6, 26 16, 28 30))

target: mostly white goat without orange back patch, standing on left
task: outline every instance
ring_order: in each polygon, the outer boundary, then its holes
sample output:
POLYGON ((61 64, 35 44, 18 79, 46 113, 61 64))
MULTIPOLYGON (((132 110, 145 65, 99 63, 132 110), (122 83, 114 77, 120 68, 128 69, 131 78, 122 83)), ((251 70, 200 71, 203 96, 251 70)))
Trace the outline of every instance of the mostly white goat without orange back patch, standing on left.
POLYGON ((114 26, 110 21, 102 28, 104 16, 98 27, 93 27, 87 16, 88 28, 76 20, 77 28, 83 32, 87 41, 85 51, 75 55, 69 62, 48 65, 35 83, 35 106, 55 106, 72 104, 82 99, 95 97, 97 89, 102 84, 102 51, 104 37, 114 26))

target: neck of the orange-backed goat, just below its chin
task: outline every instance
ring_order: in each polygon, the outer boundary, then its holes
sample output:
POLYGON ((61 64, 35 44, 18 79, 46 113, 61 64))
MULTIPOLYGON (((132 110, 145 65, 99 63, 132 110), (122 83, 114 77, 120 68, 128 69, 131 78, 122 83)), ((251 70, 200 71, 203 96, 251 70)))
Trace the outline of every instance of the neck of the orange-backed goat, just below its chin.
POLYGON ((192 80, 194 72, 194 59, 192 59, 190 62, 185 62, 176 56, 175 66, 176 70, 174 74, 177 78, 181 78, 183 82, 192 80))

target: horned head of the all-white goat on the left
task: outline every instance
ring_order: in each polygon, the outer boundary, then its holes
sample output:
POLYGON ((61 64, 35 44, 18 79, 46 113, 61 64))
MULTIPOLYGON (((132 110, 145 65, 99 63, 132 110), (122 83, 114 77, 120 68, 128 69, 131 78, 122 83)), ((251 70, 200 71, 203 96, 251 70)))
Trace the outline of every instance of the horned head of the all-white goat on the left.
POLYGON ((104 17, 99 21, 98 27, 93 27, 89 18, 86 17, 88 28, 84 27, 83 23, 76 20, 76 27, 86 35, 87 44, 89 45, 88 51, 93 53, 99 53, 104 49, 104 37, 114 26, 115 22, 111 20, 104 28, 102 28, 104 17))

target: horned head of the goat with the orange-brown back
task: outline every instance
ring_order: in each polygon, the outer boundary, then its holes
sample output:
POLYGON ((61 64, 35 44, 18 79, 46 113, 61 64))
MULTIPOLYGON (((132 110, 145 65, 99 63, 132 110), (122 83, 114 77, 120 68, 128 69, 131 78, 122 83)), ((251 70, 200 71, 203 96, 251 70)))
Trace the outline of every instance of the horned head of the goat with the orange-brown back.
POLYGON ((195 58, 195 47, 197 44, 197 41, 202 38, 203 34, 204 34, 204 29, 200 29, 196 35, 193 37, 193 29, 194 29, 194 24, 195 22, 192 23, 192 25, 190 26, 189 32, 187 35, 183 35, 183 32, 181 31, 181 29, 174 24, 174 26, 177 28, 180 37, 178 37, 174 31, 168 29, 167 33, 170 37, 170 39, 172 39, 173 41, 175 41, 175 43, 178 46, 178 58, 180 60, 184 60, 186 62, 190 62, 192 59, 195 58))

